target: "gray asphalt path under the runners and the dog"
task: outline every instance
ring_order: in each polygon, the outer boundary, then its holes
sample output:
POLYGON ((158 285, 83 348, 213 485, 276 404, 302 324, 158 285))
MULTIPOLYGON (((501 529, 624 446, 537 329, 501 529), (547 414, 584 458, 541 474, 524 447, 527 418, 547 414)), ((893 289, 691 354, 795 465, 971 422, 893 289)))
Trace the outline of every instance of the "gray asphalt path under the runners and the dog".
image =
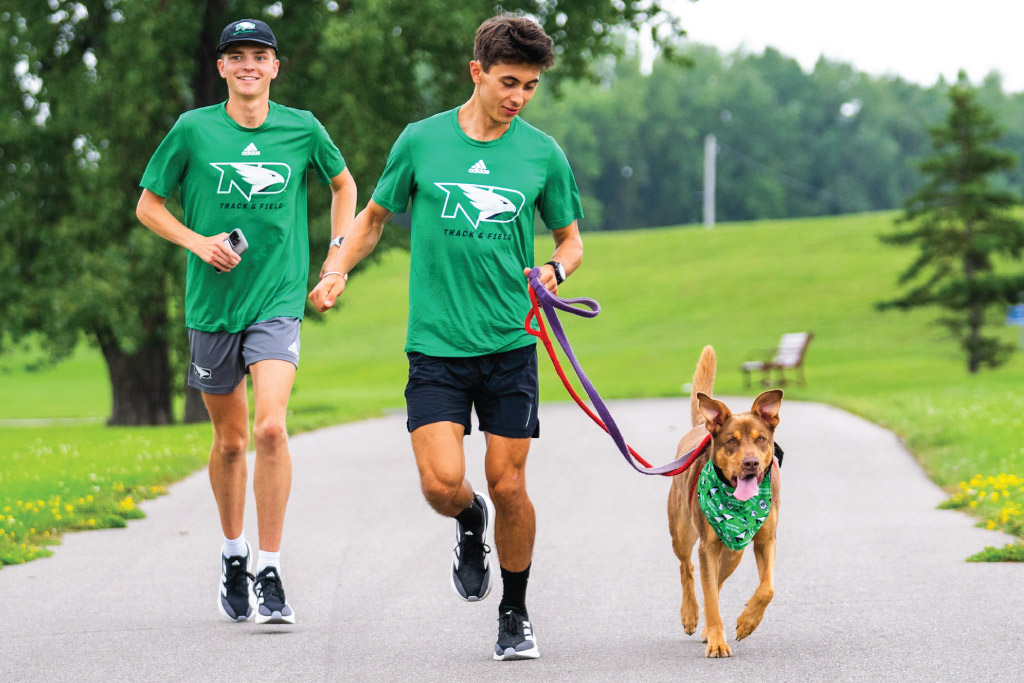
MULTIPOLYGON (((688 428, 686 399, 611 410, 657 463, 688 428)), ((669 480, 633 472, 572 404, 544 404, 541 417, 527 468, 540 659, 492 659, 500 586, 479 603, 455 596, 455 524, 422 500, 394 415, 291 440, 282 575, 295 626, 217 611, 220 533, 204 471, 127 528, 71 533, 54 557, 0 570, 0 681, 1020 680, 1024 567, 965 562, 1012 539, 936 509, 943 493, 891 433, 783 403, 775 598, 735 642, 757 582, 748 551, 722 591, 733 656, 707 659, 679 622, 669 480)), ((466 445, 482 488, 482 437, 466 445)))

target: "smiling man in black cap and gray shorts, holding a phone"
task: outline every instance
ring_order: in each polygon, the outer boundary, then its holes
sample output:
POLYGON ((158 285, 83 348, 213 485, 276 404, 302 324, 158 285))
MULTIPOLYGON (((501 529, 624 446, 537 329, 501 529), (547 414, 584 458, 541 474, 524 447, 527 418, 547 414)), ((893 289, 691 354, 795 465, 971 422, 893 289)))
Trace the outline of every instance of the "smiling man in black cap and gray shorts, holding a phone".
POLYGON ((210 483, 224 535, 218 607, 231 621, 255 611, 258 624, 294 624, 281 581, 281 541, 292 483, 285 416, 309 272, 306 170, 331 186, 328 252, 337 250, 352 222, 355 181, 312 114, 270 101, 281 66, 270 27, 259 19, 232 22, 217 51, 227 100, 178 118, 145 169, 136 213, 146 227, 189 252, 188 384, 203 392, 213 422, 210 483), (165 207, 175 187, 183 223, 165 207), (255 403, 255 575, 243 523, 247 374, 255 403))

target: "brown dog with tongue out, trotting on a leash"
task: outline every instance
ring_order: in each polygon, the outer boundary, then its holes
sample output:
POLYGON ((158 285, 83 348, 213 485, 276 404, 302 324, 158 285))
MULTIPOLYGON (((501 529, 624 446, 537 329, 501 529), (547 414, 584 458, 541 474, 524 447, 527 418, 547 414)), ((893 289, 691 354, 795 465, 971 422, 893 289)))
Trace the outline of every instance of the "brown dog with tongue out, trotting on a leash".
MULTIPOLYGON (((760 529, 754 535, 754 555, 758 561, 761 581, 754 596, 746 602, 746 608, 736 620, 736 640, 742 640, 758 628, 765 607, 771 602, 775 592, 772 572, 775 564, 775 528, 778 525, 779 477, 778 468, 772 465, 772 456, 782 391, 765 391, 754 400, 750 413, 733 415, 725 403, 709 395, 714 385, 715 349, 706 346, 693 375, 690 399, 693 429, 679 441, 677 457, 695 447, 708 433, 712 435, 712 442, 689 469, 673 477, 669 492, 669 529, 672 532, 672 548, 679 557, 679 575, 683 584, 683 605, 679 610, 683 629, 691 635, 696 631, 699 617, 693 585, 693 563, 690 561, 693 544, 699 538, 697 556, 700 558, 700 587, 705 598, 702 640, 708 643, 706 654, 710 657, 727 657, 732 655, 732 650, 725 642, 718 595, 722 584, 739 564, 743 550, 730 549, 713 528, 701 509, 698 500, 700 495, 695 493, 697 478, 711 459, 718 472, 709 472, 707 476, 714 476, 714 481, 726 485, 719 496, 733 497, 736 501, 752 499, 760 502, 762 510, 768 508, 765 510, 767 517, 763 518, 760 529), (767 504, 769 484, 764 483, 766 477, 770 477, 770 506, 767 504), (735 490, 729 492, 729 487, 735 490), (759 493, 760 497, 753 499, 759 493)), ((716 492, 717 488, 718 486, 711 490, 716 492)), ((723 499, 719 499, 721 500, 723 499)), ((741 505, 724 500, 725 505, 720 505, 718 510, 731 510, 730 506, 741 505)), ((756 507, 756 504, 752 505, 756 507)), ((716 516, 718 523, 721 523, 721 516, 716 516)), ((738 543, 735 538, 727 540, 733 546, 738 543)))

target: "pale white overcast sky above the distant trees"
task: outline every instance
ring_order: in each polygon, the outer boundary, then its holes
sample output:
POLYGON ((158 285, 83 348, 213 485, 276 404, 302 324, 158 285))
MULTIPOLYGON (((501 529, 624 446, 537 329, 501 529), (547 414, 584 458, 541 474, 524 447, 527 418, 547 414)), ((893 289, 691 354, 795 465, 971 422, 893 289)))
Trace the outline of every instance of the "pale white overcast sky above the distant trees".
POLYGON ((933 85, 967 71, 1024 90, 1024 0, 668 0, 688 38, 729 52, 765 46, 805 70, 822 53, 873 75, 933 85))

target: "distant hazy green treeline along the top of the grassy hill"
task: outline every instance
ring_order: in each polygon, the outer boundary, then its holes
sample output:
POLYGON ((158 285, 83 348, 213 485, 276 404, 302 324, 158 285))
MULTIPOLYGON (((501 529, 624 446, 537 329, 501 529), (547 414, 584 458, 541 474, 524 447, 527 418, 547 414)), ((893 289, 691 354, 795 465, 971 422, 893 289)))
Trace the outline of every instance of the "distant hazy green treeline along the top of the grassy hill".
MULTIPOLYGON (((948 85, 925 88, 820 59, 811 73, 777 50, 719 53, 693 46, 690 68, 658 60, 609 67, 599 86, 544 93, 526 119, 565 150, 590 229, 702 220, 705 136, 719 143, 717 217, 748 220, 900 207, 932 152, 929 127, 948 85)), ((999 145, 1024 156, 1024 95, 997 75, 978 86, 1005 127, 999 145)), ((1024 184, 1018 165, 1006 178, 1024 184)))

